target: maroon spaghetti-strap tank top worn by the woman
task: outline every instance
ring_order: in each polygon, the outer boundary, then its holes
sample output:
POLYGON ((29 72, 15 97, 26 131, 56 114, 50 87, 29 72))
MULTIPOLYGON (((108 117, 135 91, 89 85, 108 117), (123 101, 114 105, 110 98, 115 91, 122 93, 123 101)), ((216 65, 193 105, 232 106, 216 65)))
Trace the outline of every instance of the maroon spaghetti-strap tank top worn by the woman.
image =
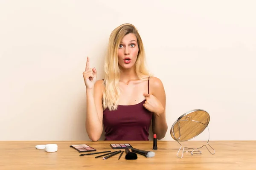
MULTIPOLYGON (((148 79, 149 94, 149 79, 148 79)), ((103 111, 105 140, 147 141, 153 113, 142 102, 135 105, 118 105, 115 111, 103 111)))

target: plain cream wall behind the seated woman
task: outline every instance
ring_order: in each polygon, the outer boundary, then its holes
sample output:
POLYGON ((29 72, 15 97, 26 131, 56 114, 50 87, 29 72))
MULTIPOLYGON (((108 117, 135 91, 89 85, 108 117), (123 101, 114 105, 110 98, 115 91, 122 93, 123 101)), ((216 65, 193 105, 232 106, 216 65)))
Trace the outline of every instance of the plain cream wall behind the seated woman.
MULTIPOLYGON (((170 128, 204 109, 210 140, 256 140, 256 1, 1 0, 0 140, 89 140, 86 57, 103 78, 111 31, 134 24, 170 128)), ((104 139, 102 135, 102 139, 104 139)), ((194 140, 207 140, 205 130, 194 140)))

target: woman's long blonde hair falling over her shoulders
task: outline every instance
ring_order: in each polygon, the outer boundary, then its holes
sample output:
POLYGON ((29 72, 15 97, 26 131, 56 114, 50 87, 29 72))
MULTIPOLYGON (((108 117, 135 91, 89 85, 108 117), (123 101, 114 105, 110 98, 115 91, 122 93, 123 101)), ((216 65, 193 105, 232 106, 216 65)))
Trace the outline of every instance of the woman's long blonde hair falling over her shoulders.
POLYGON ((120 96, 120 68, 118 65, 118 48, 122 38, 127 34, 134 34, 137 37, 139 52, 135 62, 135 71, 139 79, 148 79, 149 72, 145 67, 145 51, 140 34, 132 24, 122 24, 115 28, 109 38, 108 52, 105 58, 105 90, 103 91, 103 110, 116 110, 120 96))

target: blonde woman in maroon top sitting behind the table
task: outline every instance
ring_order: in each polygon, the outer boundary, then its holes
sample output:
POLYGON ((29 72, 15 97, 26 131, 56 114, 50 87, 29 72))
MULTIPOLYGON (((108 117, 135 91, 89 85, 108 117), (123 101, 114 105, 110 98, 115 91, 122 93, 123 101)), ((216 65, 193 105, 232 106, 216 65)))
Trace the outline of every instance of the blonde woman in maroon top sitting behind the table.
POLYGON ((143 42, 137 29, 123 24, 113 30, 105 58, 105 78, 97 80, 87 57, 83 72, 87 94, 86 131, 98 141, 148 140, 152 122, 157 139, 166 135, 166 94, 163 83, 145 68, 143 42))

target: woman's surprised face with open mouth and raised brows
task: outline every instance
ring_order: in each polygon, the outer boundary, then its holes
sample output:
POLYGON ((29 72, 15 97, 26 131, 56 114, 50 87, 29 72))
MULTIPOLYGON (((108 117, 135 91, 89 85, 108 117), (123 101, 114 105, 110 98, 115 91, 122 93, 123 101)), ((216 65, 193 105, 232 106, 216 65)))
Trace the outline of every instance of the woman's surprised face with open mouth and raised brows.
POLYGON ((120 69, 129 69, 135 65, 139 52, 137 37, 130 33, 123 37, 118 48, 118 64, 120 69))

